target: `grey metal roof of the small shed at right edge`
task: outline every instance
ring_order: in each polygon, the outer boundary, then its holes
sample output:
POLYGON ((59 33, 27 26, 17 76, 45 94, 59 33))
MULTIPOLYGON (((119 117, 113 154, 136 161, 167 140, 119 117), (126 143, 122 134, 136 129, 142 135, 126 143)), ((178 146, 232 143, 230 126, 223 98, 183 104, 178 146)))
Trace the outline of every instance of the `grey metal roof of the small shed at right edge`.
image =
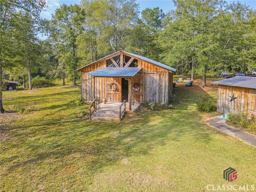
POLYGON ((219 85, 228 85, 235 87, 246 87, 256 89, 256 77, 236 76, 228 79, 211 82, 219 85))

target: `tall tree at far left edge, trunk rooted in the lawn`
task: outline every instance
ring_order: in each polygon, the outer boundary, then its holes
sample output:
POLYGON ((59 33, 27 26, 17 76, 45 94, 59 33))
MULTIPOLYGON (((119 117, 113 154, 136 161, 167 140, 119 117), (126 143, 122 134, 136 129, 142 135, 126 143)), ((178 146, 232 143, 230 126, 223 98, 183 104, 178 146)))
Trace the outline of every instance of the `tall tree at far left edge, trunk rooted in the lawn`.
MULTIPOLYGON (((3 70, 15 66, 13 56, 13 31, 16 29, 15 22, 20 20, 16 14, 18 10, 32 15, 41 20, 40 12, 46 6, 45 0, 1 0, 0 1, 0 113, 5 112, 2 105, 3 70)), ((22 21, 22 20, 20 20, 22 21)), ((18 29, 17 29, 18 30, 18 29)))

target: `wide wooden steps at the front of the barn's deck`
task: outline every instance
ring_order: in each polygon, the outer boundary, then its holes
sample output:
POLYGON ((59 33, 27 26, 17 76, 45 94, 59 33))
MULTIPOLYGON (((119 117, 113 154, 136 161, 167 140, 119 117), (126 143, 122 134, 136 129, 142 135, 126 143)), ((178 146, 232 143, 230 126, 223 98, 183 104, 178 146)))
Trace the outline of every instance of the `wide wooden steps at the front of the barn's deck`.
MULTIPOLYGON (((124 114, 121 116, 123 118, 124 114)), ((119 111, 95 110, 91 116, 95 121, 119 121, 119 111)))

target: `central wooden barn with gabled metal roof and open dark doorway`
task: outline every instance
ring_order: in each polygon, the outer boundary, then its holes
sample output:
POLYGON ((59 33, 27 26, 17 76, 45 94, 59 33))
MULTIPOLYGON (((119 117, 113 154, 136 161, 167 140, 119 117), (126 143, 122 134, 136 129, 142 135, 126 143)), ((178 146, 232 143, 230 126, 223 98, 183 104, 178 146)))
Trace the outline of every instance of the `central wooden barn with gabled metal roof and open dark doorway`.
POLYGON ((166 102, 172 93, 175 68, 149 58, 118 51, 78 69, 82 100, 135 103, 166 102))

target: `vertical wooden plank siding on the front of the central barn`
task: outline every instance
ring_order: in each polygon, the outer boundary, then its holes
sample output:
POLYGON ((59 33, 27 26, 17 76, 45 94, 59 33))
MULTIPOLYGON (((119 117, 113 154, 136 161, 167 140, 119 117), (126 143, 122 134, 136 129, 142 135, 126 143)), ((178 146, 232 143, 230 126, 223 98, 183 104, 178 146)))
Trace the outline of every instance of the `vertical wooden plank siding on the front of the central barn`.
MULTIPOLYGON (((86 76, 88 73, 102 67, 106 67, 106 60, 81 69, 82 100, 92 101, 96 97, 102 101, 103 98, 106 97, 108 102, 121 102, 122 78, 97 78, 93 76, 86 76), (118 86, 116 91, 111 91, 109 89, 112 82, 118 86), (93 89, 95 89, 95 91, 93 89)), ((134 101, 136 103, 168 103, 169 95, 172 92, 172 72, 140 59, 138 59, 138 67, 141 67, 142 70, 131 78, 132 87, 135 82, 140 84, 140 90, 135 91, 132 89, 132 98, 134 98, 134 101)))

